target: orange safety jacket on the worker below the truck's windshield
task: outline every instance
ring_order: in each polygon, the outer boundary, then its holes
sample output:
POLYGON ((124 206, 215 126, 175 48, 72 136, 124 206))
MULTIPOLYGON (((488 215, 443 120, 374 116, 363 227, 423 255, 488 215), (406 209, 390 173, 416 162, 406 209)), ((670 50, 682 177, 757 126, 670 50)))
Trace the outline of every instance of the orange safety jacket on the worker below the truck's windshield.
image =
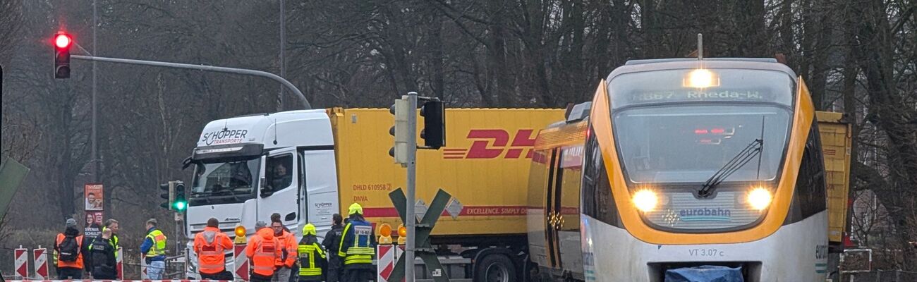
POLYGON ((217 274, 226 270, 226 250, 232 250, 232 240, 215 227, 206 227, 194 235, 194 253, 197 266, 203 274, 217 274))

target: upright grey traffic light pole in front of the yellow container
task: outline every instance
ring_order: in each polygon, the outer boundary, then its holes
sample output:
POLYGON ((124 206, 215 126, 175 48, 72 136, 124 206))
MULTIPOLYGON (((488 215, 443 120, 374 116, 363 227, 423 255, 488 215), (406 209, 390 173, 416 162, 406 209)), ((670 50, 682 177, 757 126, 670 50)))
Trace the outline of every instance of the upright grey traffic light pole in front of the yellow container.
POLYGON ((413 238, 416 236, 415 225, 417 217, 414 216, 414 186, 417 179, 417 92, 407 93, 408 109, 410 113, 407 118, 407 201, 405 207, 407 216, 405 227, 407 227, 407 240, 404 245, 404 281, 414 281, 414 244, 413 238))

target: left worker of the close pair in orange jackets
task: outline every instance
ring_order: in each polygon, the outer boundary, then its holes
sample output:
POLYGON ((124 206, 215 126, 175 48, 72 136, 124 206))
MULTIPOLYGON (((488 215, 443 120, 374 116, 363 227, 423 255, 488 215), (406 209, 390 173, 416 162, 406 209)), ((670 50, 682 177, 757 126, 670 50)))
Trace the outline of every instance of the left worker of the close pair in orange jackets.
POLYGON ((280 242, 274 237, 274 231, 267 227, 267 223, 255 224, 255 235, 249 239, 245 247, 245 255, 251 262, 250 282, 269 282, 274 276, 274 261, 282 256, 280 242))

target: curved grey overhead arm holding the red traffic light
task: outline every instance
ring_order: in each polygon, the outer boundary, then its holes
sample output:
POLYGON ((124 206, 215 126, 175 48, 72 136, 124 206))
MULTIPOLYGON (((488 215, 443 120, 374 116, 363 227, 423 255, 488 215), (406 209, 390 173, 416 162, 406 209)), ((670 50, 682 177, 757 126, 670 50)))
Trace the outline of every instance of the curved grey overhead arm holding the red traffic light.
MULTIPOLYGON (((177 63, 177 62, 165 62, 165 61, 155 61, 155 60, 130 60, 130 59, 117 59, 117 58, 79 56, 79 55, 71 55, 70 58, 76 59, 76 60, 105 61, 105 62, 114 62, 114 63, 122 63, 122 64, 144 65, 144 66, 154 66, 154 67, 174 68, 174 69, 189 69, 189 70, 198 70, 198 71, 215 71, 215 72, 236 73, 236 74, 265 77, 265 78, 269 78, 274 81, 281 82, 284 86, 290 89, 290 91, 298 95, 297 98, 299 98, 300 102, 303 103, 303 106, 305 107, 305 109, 307 110, 312 109, 312 105, 309 103, 309 100, 305 99, 305 95, 303 94, 303 92, 300 92, 299 89, 293 85, 293 83, 290 83, 290 81, 287 81, 283 79, 282 77, 276 74, 273 74, 271 72, 267 72, 267 71, 255 71, 255 70, 237 69, 237 68, 193 65, 193 64, 183 64, 183 63, 177 63)), ((416 106, 417 104, 416 97, 417 97, 417 93, 414 92, 414 106, 416 106)), ((414 117, 414 125, 416 125, 416 117, 414 117)), ((414 142, 414 145, 416 145, 416 141, 414 142)))

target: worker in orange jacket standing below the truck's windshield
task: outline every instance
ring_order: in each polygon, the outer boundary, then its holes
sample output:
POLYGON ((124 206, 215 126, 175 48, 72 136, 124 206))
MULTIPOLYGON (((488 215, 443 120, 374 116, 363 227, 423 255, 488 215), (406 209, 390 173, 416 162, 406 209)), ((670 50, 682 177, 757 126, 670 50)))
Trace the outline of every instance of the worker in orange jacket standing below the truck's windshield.
POLYGON ((232 273, 226 270, 226 250, 232 250, 232 240, 220 232, 219 225, 219 220, 210 218, 204 232, 194 235, 194 253, 201 279, 233 279, 232 273))

